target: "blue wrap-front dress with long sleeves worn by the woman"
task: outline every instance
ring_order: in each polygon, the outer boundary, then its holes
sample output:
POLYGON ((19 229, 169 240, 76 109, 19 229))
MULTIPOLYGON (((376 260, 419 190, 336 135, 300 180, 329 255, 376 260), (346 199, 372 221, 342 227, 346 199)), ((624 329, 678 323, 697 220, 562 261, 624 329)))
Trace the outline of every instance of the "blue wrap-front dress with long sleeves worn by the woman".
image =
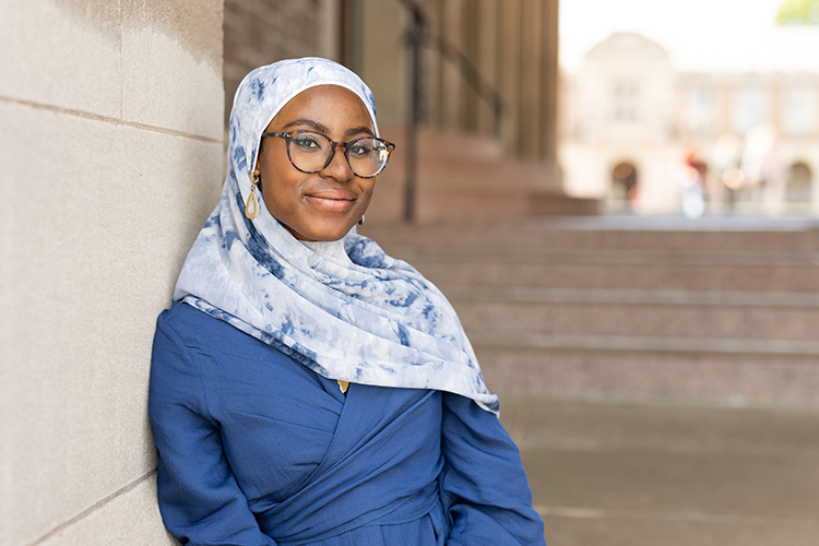
POLYGON ((456 394, 351 384, 185 304, 150 416, 168 530, 195 546, 544 545, 518 448, 456 394))

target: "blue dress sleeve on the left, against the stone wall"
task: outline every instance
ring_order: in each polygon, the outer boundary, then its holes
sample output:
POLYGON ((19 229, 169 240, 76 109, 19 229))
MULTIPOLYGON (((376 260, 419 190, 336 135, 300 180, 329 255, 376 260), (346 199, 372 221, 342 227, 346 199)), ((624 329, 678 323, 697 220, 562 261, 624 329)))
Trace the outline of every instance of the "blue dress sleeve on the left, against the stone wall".
POLYGON ((168 531, 190 546, 274 546, 230 472, 195 363, 163 316, 154 336, 149 414, 168 531))

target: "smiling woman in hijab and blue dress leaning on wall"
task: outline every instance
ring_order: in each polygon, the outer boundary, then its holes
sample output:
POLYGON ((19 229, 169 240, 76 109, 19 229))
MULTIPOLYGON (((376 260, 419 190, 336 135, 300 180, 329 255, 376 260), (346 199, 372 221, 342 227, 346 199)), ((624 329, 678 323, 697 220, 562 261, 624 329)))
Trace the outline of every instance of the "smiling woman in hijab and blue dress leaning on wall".
POLYGON ((154 340, 159 507, 183 544, 544 544, 454 311, 355 233, 392 147, 332 61, 239 85, 222 200, 154 340))

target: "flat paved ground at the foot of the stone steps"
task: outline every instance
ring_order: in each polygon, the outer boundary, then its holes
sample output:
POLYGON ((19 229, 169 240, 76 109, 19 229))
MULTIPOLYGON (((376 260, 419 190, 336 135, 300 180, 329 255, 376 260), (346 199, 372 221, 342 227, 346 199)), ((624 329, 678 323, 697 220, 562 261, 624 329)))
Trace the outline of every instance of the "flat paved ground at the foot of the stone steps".
POLYGON ((819 545, 819 411, 503 396, 549 546, 819 545))

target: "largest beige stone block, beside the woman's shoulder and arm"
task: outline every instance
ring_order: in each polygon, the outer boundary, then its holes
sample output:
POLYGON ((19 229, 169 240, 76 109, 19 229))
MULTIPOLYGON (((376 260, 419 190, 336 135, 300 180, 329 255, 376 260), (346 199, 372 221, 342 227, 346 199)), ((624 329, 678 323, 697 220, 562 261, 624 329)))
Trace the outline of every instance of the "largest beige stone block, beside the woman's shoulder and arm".
POLYGON ((13 103, 0 119, 0 544, 16 546, 154 467, 155 319, 223 152, 13 103))

